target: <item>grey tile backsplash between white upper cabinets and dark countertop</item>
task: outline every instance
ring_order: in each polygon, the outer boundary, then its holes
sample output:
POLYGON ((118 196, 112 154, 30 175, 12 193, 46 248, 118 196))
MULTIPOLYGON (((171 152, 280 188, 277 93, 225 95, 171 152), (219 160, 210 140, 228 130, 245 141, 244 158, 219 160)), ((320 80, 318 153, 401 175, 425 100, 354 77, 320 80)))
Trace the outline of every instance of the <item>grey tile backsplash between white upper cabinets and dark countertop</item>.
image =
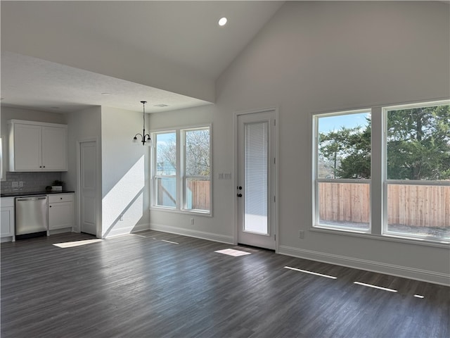
POLYGON ((1 182, 2 194, 11 192, 44 192, 47 185, 61 180, 61 173, 11 173, 6 172, 6 180, 1 182), (23 187, 13 187, 13 182, 23 182, 23 187))

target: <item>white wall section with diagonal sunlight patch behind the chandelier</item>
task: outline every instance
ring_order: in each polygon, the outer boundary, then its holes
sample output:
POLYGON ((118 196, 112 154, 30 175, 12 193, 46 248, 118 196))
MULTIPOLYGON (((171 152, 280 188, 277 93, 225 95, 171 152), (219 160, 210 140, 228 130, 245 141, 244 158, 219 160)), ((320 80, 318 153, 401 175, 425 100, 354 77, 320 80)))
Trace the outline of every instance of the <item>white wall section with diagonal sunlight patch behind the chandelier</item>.
POLYGON ((148 229, 149 148, 133 144, 142 112, 101 108, 102 237, 148 229))

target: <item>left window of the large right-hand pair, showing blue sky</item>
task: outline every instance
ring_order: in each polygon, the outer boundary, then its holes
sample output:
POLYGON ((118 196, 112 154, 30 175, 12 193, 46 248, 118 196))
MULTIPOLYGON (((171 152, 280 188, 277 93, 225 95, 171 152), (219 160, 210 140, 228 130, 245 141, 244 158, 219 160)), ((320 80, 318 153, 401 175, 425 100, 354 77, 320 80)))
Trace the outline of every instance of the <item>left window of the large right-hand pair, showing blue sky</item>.
POLYGON ((368 232, 371 112, 316 115, 314 226, 368 232))

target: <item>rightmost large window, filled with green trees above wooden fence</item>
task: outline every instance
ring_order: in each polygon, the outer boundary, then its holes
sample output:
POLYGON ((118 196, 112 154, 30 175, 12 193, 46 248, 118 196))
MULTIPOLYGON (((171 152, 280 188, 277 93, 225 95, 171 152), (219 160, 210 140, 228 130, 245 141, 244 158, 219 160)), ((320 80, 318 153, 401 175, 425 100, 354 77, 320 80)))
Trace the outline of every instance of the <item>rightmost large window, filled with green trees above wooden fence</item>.
POLYGON ((450 239, 450 106, 385 108, 384 234, 450 239))

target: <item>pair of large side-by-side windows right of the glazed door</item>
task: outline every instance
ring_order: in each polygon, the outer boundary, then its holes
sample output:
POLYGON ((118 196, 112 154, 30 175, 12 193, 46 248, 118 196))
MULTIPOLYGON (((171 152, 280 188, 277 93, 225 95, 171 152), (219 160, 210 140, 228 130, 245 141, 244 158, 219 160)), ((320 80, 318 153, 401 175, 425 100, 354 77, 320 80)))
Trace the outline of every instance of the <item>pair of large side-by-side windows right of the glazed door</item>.
POLYGON ((314 227, 450 242, 449 101, 313 120, 314 227))

